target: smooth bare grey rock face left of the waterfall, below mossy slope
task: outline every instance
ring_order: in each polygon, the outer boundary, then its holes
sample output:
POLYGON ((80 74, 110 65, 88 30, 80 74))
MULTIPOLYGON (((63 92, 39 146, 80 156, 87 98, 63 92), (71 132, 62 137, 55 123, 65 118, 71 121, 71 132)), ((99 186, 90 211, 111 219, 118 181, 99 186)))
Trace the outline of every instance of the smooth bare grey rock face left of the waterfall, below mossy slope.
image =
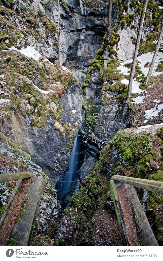
POLYGON ((80 89, 76 85, 71 85, 60 98, 59 105, 63 108, 61 120, 68 127, 72 127, 69 134, 62 135, 59 130, 54 129, 55 119, 52 117, 47 118, 43 127, 37 127, 31 126, 32 115, 27 115, 24 119, 21 114, 15 112, 10 117, 9 125, 6 123, 6 129, 10 130, 7 131, 7 135, 43 168, 54 186, 60 175, 69 168, 69 153, 66 152, 66 148, 72 148, 73 144, 69 143, 69 139, 73 141, 77 126, 81 122, 81 102, 80 89), (72 113, 73 109, 76 109, 76 113, 72 113))

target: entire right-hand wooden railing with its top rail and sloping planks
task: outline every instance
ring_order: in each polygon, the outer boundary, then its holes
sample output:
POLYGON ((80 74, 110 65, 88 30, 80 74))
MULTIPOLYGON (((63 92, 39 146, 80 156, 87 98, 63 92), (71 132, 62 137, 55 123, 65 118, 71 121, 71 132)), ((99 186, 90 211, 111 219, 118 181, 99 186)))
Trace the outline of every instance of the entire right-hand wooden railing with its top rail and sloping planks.
POLYGON ((119 175, 112 177, 110 188, 124 244, 158 246, 134 187, 163 194, 163 182, 161 181, 119 175), (124 202, 127 204, 127 208, 124 202), (127 216, 124 217, 124 213, 127 213, 127 216), (131 222, 128 223, 128 220, 131 220, 131 222), (135 230, 131 231, 131 226, 135 226, 135 230), (139 237, 141 242, 139 242, 139 237))

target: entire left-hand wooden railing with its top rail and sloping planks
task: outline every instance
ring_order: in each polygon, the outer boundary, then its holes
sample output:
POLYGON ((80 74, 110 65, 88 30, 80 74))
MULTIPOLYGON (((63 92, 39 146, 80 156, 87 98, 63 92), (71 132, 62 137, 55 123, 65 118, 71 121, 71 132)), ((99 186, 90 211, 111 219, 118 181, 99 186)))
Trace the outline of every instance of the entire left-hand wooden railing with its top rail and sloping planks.
MULTIPOLYGON (((11 182, 13 180, 18 180, 18 181, 0 219, 0 237, 2 238, 4 237, 3 235, 4 235, 4 231, 6 231, 5 230, 6 228, 8 230, 8 236, 6 236, 4 242, 1 243, 2 245, 6 245, 6 243, 8 242, 7 240, 10 237, 14 245, 26 246, 30 244, 31 235, 35 226, 35 219, 37 216, 39 202, 43 191, 44 177, 35 176, 34 173, 32 172, 0 174, 0 183, 11 182), (21 202, 19 201, 21 208, 17 213, 18 215, 14 216, 11 211, 12 204, 14 205, 15 204, 14 200, 17 197, 20 197, 21 191, 22 194, 24 193, 22 184, 26 185, 28 181, 30 181, 30 184, 27 184, 28 187, 27 187, 27 191, 25 192, 26 194, 24 195, 24 198, 21 198, 21 202), (23 203, 25 201, 26 204, 23 203), (10 217, 14 219, 13 227, 11 227, 12 229, 11 231, 8 229, 8 220, 10 219, 10 217)), ((17 206, 17 201, 16 201, 16 206, 17 206)))

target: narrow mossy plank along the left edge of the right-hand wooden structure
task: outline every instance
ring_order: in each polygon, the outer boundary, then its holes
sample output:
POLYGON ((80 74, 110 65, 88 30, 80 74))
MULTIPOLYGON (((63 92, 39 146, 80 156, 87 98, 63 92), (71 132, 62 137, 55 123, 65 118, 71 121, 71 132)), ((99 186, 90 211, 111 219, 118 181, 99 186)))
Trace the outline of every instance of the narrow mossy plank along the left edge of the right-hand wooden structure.
POLYGON ((117 219, 118 219, 122 239, 123 239, 124 245, 126 246, 127 243, 126 243, 126 236, 124 235, 124 224, 122 222, 122 212, 121 212, 120 204, 119 204, 119 200, 118 200, 117 188, 115 187, 115 183, 114 183, 113 180, 110 180, 110 189, 111 189, 112 196, 113 196, 114 207, 115 207, 115 210, 116 210, 117 219))

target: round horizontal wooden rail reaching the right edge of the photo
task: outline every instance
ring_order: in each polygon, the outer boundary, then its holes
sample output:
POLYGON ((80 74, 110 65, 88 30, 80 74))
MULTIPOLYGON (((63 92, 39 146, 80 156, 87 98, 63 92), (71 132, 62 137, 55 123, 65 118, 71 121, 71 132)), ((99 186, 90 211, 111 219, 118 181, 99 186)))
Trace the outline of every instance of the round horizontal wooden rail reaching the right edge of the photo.
POLYGON ((126 176, 119 176, 119 175, 114 175, 112 179, 120 182, 124 182, 129 185, 133 185, 134 187, 143 188, 155 193, 163 194, 163 182, 161 181, 145 180, 145 179, 132 178, 126 176))

